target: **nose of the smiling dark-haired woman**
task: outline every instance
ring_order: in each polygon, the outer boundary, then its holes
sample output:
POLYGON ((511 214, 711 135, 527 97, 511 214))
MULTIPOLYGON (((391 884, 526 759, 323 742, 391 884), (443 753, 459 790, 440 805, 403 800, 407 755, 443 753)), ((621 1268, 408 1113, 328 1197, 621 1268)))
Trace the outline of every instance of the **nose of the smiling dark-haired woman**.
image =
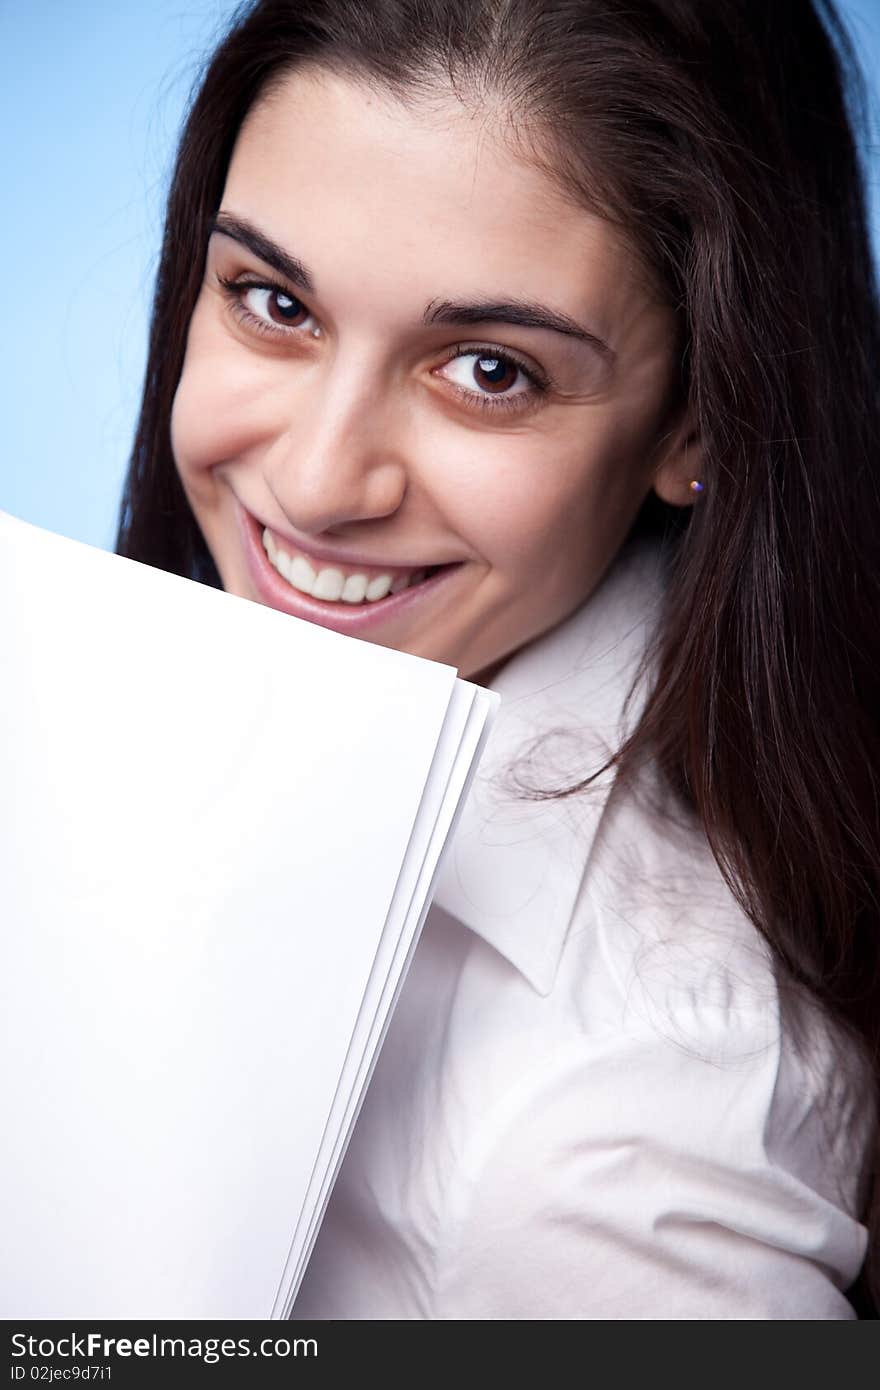
POLYGON ((364 364, 338 361, 286 402, 264 460, 291 525, 318 535, 398 510, 407 488, 403 402, 364 364))

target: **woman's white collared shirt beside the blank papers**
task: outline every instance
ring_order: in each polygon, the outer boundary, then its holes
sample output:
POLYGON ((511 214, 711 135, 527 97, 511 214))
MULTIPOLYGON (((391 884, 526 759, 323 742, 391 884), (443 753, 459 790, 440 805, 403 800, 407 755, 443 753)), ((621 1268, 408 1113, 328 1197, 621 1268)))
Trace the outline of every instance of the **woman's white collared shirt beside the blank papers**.
POLYGON ((612 774, 548 802, 499 781, 537 734, 562 731, 520 776, 562 787, 634 727, 660 598, 630 545, 496 676, 295 1319, 854 1316, 870 1093, 820 1022, 780 1027, 701 827, 612 774))

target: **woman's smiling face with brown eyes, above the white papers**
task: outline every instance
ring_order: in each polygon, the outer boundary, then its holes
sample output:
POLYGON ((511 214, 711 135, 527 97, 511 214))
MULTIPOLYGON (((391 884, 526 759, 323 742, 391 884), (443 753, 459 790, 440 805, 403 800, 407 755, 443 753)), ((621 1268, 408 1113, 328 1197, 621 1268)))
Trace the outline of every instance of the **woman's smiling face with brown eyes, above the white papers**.
POLYGON ((690 500, 674 366, 633 253, 500 124, 300 70, 235 146, 174 456, 227 592, 488 680, 652 485, 690 500))

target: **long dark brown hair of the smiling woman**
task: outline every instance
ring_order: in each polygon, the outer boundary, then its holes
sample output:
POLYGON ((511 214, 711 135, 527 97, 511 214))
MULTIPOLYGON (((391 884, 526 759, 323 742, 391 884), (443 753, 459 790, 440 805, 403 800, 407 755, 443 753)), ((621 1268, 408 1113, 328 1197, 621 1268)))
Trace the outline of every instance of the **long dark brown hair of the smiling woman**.
MULTIPOLYGON (((195 96, 174 170, 117 550, 220 578, 170 414, 241 124, 299 63, 402 96, 500 99, 614 221, 681 324, 705 493, 674 528, 648 752, 734 895, 880 1086, 880 317, 830 0, 259 0, 195 96)), ((658 507, 644 509, 644 524, 658 507)), ((584 784, 580 784, 584 785, 584 784)), ((576 788, 567 788, 569 795, 576 788)), ((880 1301, 874 1145, 869 1255, 880 1301)), ((872 1305, 873 1300, 873 1305, 872 1305)))

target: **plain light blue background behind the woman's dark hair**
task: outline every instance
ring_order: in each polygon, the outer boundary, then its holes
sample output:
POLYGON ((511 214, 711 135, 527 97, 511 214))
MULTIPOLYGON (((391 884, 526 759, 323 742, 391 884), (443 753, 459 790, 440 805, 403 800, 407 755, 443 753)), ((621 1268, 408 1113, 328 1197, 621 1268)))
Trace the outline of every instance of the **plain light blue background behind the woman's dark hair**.
MULTIPOLYGON (((770 3, 770 0, 769 0, 770 3)), ((0 0, 0 509, 113 546, 177 131, 232 0, 0 0)), ((874 99, 880 0, 842 0, 874 99)))

